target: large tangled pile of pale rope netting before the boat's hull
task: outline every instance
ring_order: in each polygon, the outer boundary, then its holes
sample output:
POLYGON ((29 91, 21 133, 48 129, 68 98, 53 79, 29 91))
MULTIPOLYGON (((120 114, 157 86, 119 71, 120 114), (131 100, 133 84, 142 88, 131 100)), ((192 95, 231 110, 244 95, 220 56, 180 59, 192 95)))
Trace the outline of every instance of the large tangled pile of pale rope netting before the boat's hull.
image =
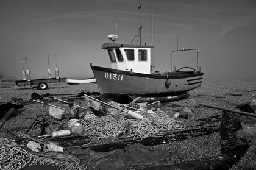
MULTIPOLYGON (((108 102, 115 107, 123 108, 116 102, 108 102)), ((135 105, 133 105, 135 107, 135 105)), ((136 106, 140 108, 141 106, 136 106)), ((127 112, 122 112, 115 108, 108 108, 109 115, 98 118, 93 113, 84 116, 81 120, 84 126, 84 135, 90 138, 129 138, 142 140, 149 136, 172 135, 171 130, 180 129, 180 122, 175 121, 163 112, 158 110, 153 113, 147 112, 146 108, 140 108, 143 112, 143 119, 132 119, 127 116, 127 112)), ((134 111, 134 110, 133 110, 134 111)))

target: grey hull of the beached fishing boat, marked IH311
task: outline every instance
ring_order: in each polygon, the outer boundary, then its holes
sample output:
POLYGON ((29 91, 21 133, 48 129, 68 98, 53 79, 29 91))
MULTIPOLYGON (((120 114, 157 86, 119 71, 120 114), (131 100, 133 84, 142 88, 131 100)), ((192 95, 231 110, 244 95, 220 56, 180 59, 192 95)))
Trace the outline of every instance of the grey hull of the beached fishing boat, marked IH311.
POLYGON ((101 94, 136 96, 173 96, 202 85, 203 73, 168 73, 165 75, 131 73, 118 69, 92 66, 101 94), (166 83, 166 80, 168 82, 166 83), (171 84, 169 84, 171 82, 171 84))

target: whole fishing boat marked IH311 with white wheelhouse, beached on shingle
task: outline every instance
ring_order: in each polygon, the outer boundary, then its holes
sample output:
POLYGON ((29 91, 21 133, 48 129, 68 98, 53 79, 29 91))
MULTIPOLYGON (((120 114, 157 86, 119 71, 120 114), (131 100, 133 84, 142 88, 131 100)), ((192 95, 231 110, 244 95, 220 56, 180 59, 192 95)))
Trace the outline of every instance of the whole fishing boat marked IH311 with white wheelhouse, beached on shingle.
POLYGON ((133 98, 141 96, 175 100, 182 96, 188 97, 188 91, 202 85, 204 73, 198 66, 198 49, 172 51, 170 71, 151 73, 151 49, 154 46, 119 44, 116 43, 117 35, 108 35, 108 38, 113 43, 103 44, 102 49, 108 52, 111 68, 90 65, 105 101, 119 94, 128 94, 133 98), (185 67, 172 71, 172 54, 191 50, 197 51, 196 68, 185 67))

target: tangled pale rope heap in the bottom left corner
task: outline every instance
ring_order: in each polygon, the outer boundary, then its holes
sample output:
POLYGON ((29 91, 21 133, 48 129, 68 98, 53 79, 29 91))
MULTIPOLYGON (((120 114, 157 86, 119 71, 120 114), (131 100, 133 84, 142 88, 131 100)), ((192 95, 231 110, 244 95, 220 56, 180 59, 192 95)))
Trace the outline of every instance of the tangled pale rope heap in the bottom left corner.
POLYGON ((21 169, 30 165, 49 165, 58 170, 86 169, 80 160, 68 155, 34 155, 7 139, 0 139, 0 169, 21 169), (54 157, 54 158, 49 158, 54 157))

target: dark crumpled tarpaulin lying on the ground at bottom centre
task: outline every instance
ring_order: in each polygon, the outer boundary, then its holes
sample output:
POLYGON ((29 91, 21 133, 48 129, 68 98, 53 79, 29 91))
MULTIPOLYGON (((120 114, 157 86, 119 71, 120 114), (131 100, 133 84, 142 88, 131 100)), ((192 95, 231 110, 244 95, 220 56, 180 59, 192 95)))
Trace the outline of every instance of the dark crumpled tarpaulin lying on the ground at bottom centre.
POLYGON ((134 144, 124 149, 115 149, 110 152, 95 152, 88 149, 69 149, 66 154, 72 154, 87 165, 89 170, 107 169, 123 170, 129 166, 145 166, 160 163, 170 156, 170 152, 163 149, 151 149, 142 144, 134 144))

